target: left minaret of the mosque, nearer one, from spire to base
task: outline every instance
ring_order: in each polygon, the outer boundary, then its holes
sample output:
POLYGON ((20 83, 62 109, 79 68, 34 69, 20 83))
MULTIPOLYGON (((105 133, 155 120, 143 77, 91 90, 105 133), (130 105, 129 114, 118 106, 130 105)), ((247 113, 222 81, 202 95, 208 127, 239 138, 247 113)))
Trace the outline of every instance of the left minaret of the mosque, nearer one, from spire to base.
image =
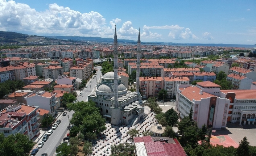
POLYGON ((117 57, 118 57, 118 53, 117 53, 117 37, 116 37, 116 28, 115 28, 115 37, 114 37, 114 104, 112 104, 111 106, 111 124, 113 125, 119 125, 119 123, 121 122, 121 106, 119 106, 118 103, 118 82, 117 82, 117 70, 118 70, 118 66, 117 66, 117 57))

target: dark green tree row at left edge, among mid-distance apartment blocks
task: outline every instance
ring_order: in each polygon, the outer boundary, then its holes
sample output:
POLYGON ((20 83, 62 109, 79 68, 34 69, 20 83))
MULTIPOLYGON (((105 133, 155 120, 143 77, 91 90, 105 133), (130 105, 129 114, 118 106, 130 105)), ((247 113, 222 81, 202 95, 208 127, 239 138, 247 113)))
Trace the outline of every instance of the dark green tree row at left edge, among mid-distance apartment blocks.
POLYGON ((0 85, 0 98, 3 98, 9 93, 13 93, 18 89, 22 89, 25 86, 22 80, 7 80, 0 85))

